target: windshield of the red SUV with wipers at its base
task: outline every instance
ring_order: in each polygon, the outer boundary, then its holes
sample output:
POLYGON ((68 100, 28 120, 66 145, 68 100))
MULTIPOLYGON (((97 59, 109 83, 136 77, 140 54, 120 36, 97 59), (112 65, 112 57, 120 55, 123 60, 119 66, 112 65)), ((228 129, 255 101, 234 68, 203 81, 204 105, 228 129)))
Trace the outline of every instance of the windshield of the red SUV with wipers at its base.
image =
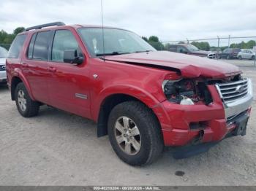
POLYGON ((132 52, 156 51, 137 34, 116 28, 104 28, 104 50, 102 28, 79 28, 83 42, 91 55, 118 55, 132 52))

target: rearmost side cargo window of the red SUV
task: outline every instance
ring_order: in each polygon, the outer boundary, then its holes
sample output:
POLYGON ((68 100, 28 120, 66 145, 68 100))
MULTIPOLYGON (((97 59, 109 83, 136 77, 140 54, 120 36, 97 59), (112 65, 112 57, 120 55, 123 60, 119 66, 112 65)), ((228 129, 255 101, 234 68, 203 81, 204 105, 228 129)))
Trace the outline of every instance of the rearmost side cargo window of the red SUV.
POLYGON ((20 50, 23 47, 23 44, 26 39, 26 34, 21 34, 16 36, 10 47, 8 58, 18 58, 20 55, 20 50))

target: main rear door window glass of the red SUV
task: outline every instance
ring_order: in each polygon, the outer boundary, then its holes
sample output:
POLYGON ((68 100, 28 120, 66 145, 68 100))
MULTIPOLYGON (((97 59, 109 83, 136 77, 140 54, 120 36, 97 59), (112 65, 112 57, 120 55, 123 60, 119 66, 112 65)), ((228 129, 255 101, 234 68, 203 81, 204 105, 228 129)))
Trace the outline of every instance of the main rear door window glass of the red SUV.
POLYGON ((48 39, 50 31, 39 32, 34 42, 33 58, 47 61, 48 60, 48 39))

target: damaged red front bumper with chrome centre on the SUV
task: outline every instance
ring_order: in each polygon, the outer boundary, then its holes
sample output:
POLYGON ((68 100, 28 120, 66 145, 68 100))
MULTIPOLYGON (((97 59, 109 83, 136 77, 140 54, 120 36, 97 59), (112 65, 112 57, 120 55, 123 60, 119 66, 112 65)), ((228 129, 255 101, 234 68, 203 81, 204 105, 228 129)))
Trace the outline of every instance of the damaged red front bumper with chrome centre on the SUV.
MULTIPOLYGON (((164 101, 161 104, 165 114, 159 117, 165 146, 184 146, 217 142, 232 134, 238 125, 236 121, 228 120, 244 113, 249 117, 252 104, 252 84, 246 97, 233 104, 223 104, 215 85, 208 85, 213 103, 208 106, 179 105, 164 101), (168 120, 162 120, 167 116, 168 120), (170 123, 167 124, 167 121, 170 123)), ((159 111, 158 111, 159 112, 159 111)))

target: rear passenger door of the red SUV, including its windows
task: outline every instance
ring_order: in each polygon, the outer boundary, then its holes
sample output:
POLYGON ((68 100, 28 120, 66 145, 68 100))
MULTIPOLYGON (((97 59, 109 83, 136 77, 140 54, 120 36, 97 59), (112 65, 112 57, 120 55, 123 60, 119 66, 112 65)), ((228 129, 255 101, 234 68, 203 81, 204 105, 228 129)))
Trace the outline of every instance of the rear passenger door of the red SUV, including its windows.
POLYGON ((52 31, 33 34, 25 58, 23 58, 23 74, 28 79, 32 94, 37 101, 49 104, 48 82, 48 50, 52 31))

